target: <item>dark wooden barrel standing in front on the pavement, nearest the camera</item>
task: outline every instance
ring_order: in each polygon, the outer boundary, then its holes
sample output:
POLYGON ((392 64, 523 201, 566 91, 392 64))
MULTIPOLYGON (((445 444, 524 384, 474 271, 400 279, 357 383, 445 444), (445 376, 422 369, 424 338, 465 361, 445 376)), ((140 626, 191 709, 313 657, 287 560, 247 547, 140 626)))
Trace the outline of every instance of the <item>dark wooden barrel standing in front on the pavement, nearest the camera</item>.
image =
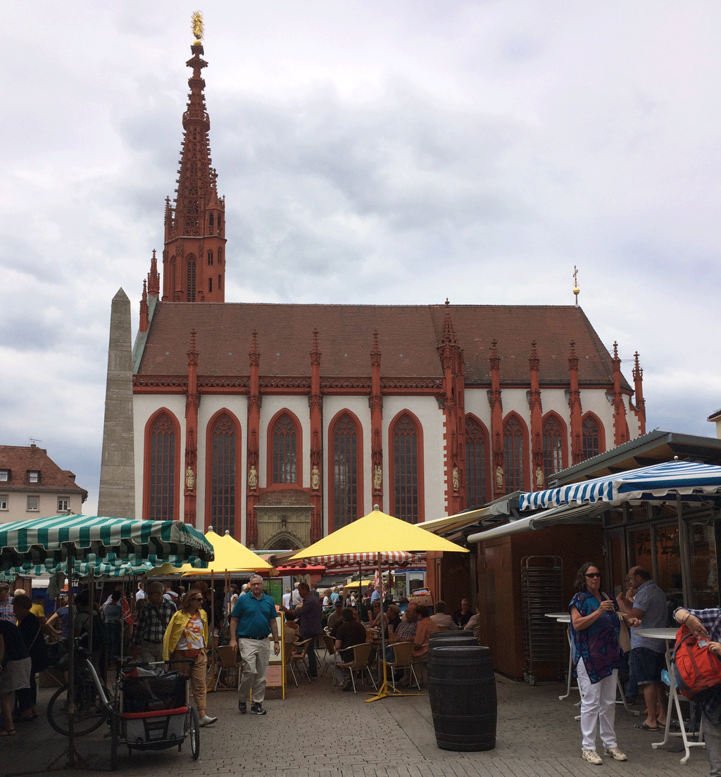
POLYGON ((428 695, 441 750, 496 747, 496 678, 487 647, 437 646, 428 661, 428 695))

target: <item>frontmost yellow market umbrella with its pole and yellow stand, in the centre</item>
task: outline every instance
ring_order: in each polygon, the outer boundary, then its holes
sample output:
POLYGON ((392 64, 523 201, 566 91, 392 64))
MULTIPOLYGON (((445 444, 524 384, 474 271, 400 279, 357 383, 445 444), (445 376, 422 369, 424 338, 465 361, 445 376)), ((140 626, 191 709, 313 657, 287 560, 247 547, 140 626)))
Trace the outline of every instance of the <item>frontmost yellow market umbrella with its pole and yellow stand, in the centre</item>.
MULTIPOLYGON (((338 556, 370 556, 378 563, 378 576, 382 577, 381 563, 384 557, 391 558, 398 552, 455 552, 468 553, 468 549, 438 537, 415 524, 399 521, 392 515, 381 513, 378 507, 352 524, 333 531, 333 534, 314 542, 308 548, 299 550, 289 561, 312 559, 308 563, 333 563, 338 556), (322 559, 322 560, 321 560, 322 559)), ((370 558, 368 559, 371 560, 370 558)), ((366 699, 374 702, 390 695, 402 694, 388 682, 388 667, 385 660, 385 629, 381 629, 381 656, 383 657, 383 684, 378 692, 366 699)), ((413 694, 417 695, 417 694, 413 694)))

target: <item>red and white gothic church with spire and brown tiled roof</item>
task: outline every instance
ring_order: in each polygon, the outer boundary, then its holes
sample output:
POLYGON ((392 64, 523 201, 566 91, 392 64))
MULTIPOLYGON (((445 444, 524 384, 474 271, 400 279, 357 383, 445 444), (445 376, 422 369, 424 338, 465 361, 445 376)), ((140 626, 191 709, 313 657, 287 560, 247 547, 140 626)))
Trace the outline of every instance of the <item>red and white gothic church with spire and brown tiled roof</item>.
POLYGON ((376 504, 416 523, 544 488, 644 434, 638 354, 632 387, 577 305, 226 302, 200 40, 191 51, 177 197, 132 354, 137 517, 298 548, 376 504))

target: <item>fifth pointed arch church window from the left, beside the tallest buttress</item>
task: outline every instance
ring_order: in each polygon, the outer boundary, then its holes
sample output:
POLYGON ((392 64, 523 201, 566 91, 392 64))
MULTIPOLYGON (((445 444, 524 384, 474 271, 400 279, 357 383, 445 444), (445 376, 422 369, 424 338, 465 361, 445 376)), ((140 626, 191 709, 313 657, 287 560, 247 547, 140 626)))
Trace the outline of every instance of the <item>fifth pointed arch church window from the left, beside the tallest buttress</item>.
POLYGON ((393 514, 409 524, 417 524, 423 514, 420 434, 420 424, 410 413, 402 413, 391 432, 393 514))

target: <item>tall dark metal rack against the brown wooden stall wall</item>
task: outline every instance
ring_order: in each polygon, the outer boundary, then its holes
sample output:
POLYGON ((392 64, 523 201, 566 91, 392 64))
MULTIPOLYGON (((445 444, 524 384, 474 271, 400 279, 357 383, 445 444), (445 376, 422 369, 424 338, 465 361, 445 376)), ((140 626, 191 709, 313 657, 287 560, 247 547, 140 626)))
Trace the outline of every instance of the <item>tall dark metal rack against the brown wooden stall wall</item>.
POLYGON ((563 559, 560 556, 524 556, 521 559, 521 597, 524 623, 524 680, 535 685, 538 662, 565 664, 563 625, 547 612, 566 609, 563 601, 563 559))

